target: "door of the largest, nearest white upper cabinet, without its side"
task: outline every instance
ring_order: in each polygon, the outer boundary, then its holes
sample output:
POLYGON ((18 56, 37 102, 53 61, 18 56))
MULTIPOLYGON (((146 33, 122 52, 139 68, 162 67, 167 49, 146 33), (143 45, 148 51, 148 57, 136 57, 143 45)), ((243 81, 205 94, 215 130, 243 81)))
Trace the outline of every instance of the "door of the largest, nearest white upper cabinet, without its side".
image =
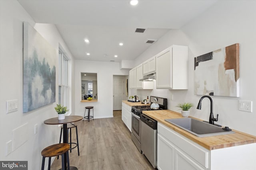
POLYGON ((156 55, 156 88, 172 88, 172 48, 156 55))

